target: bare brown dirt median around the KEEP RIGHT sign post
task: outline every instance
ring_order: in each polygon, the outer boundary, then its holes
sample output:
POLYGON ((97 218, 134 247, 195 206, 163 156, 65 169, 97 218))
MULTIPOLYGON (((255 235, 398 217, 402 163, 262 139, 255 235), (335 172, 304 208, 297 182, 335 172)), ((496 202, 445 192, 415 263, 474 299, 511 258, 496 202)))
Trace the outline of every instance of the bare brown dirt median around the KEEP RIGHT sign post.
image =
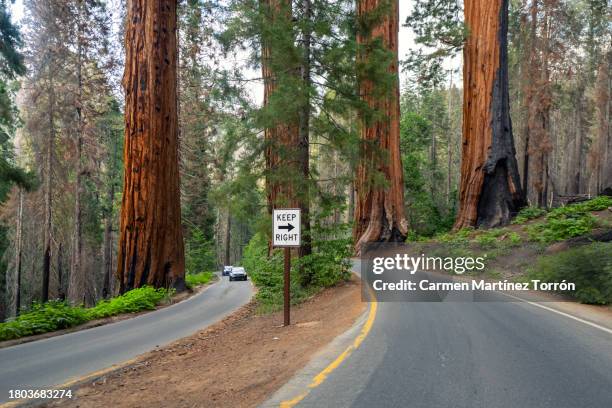
POLYGON ((258 315, 255 303, 209 328, 79 387, 55 407, 255 407, 364 312, 357 279, 292 309, 258 315))

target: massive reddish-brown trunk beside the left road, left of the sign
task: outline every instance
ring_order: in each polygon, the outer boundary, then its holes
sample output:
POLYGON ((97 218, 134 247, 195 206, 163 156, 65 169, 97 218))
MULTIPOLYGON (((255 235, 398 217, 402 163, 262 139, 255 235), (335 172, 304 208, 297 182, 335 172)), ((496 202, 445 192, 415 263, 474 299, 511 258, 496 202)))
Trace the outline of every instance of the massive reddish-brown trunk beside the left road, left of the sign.
POLYGON ((117 277, 185 288, 176 94, 176 0, 129 0, 124 187, 117 277))

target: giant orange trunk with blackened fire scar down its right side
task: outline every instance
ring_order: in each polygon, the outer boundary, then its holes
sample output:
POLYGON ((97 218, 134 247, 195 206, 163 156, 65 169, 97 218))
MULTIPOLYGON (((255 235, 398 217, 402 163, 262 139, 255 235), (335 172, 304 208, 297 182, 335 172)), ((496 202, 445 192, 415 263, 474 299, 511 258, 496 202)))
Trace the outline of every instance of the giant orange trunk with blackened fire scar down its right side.
POLYGON ((466 0, 463 146, 455 229, 510 222, 523 205, 508 95, 508 0, 466 0))

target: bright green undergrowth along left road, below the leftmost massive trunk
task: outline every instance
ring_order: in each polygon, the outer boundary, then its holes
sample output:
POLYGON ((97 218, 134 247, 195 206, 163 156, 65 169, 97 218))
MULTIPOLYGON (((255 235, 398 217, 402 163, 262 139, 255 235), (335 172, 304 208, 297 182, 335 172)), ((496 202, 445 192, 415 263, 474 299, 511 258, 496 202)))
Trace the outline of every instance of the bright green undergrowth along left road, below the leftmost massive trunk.
POLYGON ((152 310, 168 301, 173 294, 174 289, 144 286, 109 300, 101 300, 91 308, 70 306, 58 300, 34 303, 18 317, 0 323, 0 341, 67 329, 104 317, 152 310))

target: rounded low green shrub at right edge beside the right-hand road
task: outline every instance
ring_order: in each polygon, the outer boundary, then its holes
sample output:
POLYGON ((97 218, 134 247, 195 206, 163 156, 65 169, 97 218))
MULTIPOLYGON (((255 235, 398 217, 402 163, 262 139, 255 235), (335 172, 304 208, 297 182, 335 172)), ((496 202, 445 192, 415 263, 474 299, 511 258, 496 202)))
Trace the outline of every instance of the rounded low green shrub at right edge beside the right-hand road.
POLYGON ((612 243, 597 242, 542 256, 528 271, 529 279, 573 282, 582 303, 612 303, 612 243))

